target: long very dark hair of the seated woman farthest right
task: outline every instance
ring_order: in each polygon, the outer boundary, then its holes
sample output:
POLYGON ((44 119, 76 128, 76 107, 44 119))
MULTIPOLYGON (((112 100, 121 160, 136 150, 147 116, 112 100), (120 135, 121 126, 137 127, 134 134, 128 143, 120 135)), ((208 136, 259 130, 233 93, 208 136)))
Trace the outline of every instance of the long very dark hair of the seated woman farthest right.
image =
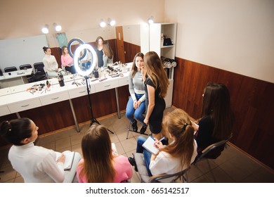
POLYGON ((230 107, 230 95, 224 84, 209 83, 204 89, 202 117, 209 116, 214 122, 213 136, 227 139, 233 128, 234 115, 230 107))

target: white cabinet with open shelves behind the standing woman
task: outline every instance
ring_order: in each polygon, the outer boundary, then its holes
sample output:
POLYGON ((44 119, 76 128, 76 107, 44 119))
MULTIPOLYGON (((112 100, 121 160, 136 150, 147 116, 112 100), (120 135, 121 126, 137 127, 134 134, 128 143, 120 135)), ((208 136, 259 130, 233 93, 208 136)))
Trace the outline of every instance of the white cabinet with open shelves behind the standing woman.
MULTIPOLYGON (((152 23, 150 24, 150 51, 155 51, 161 58, 175 59, 176 50, 176 23, 152 23), (164 39, 171 39, 171 44, 164 45, 164 39)), ((174 68, 164 68, 169 78, 169 89, 165 99, 166 106, 172 105, 172 94, 174 84, 174 68)))

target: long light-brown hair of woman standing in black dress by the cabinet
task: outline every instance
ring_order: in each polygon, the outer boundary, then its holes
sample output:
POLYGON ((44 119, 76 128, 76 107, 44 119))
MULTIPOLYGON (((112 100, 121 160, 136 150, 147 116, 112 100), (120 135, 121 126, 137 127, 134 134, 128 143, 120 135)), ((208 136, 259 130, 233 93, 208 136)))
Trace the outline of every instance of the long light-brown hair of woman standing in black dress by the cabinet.
POLYGON ((150 80, 155 87, 159 87, 159 98, 164 98, 167 95, 167 88, 169 87, 169 79, 167 73, 164 71, 162 62, 155 51, 145 53, 144 57, 145 74, 150 77, 150 80))

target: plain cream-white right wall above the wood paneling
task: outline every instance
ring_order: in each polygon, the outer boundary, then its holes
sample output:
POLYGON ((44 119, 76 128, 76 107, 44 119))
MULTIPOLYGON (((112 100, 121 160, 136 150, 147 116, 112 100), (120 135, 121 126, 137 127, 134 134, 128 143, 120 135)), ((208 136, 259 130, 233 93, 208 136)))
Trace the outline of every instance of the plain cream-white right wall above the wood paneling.
POLYGON ((176 56, 274 82, 273 0, 168 0, 176 56))

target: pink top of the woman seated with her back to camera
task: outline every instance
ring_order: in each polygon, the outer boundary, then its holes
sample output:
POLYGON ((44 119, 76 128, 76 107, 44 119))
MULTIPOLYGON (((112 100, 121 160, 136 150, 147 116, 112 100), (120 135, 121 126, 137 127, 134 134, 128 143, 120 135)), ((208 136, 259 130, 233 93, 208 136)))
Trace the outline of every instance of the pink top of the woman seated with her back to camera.
MULTIPOLYGON (((113 179, 114 183, 121 183, 125 182, 128 179, 131 179, 132 177, 132 167, 129 163, 129 160, 124 157, 123 155, 119 155, 114 158, 114 168, 115 168, 115 177, 113 179)), ((81 170, 83 169, 82 164, 84 163, 84 159, 81 159, 79 161, 78 167, 77 167, 77 178, 79 183, 88 183, 88 180, 85 176, 80 177, 79 174, 81 170)))

